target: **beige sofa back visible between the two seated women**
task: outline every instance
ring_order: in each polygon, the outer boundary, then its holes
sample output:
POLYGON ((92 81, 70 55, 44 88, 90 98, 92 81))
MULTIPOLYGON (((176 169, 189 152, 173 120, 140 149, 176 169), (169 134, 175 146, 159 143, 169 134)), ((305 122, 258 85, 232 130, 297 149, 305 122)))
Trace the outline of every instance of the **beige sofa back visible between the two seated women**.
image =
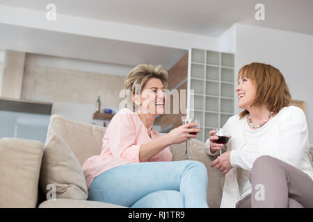
MULTIPOLYGON (((172 152, 172 161, 184 160, 186 153, 185 142, 182 144, 175 144, 170 146, 172 152)), ((193 139, 191 147, 191 155, 196 158, 197 161, 202 162, 207 167, 207 173, 209 178, 207 201, 209 207, 220 207, 220 200, 222 198, 222 187, 224 175, 221 171, 215 167, 211 168, 210 164, 216 157, 207 155, 205 152, 205 144, 198 139, 193 139)))

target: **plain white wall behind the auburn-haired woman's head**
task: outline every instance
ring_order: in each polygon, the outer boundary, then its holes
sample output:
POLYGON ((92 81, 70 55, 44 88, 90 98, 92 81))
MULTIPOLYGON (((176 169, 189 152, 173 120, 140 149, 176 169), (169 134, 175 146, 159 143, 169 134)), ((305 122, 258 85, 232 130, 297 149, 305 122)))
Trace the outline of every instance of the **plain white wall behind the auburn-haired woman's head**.
MULTIPOLYGON (((280 69, 292 99, 305 101, 312 143, 313 35, 236 24, 235 76, 250 62, 264 62, 280 69)), ((235 109, 236 113, 240 111, 235 109)))

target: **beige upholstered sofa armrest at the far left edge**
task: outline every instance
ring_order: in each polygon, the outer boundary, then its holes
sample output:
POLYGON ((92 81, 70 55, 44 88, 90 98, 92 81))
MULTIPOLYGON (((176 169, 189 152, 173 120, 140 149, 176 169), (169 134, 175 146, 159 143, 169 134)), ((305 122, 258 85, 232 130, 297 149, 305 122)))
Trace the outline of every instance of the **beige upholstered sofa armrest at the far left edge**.
POLYGON ((43 150, 34 140, 0 140, 0 208, 36 207, 43 150))

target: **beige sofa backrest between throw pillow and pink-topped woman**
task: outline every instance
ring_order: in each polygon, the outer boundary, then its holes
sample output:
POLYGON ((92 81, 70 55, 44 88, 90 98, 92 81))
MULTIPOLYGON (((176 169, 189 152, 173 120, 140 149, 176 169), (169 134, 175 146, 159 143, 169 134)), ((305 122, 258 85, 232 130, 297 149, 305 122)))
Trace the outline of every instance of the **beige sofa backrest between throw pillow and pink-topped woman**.
POLYGON ((102 126, 53 115, 50 119, 47 139, 51 133, 61 137, 70 146, 82 166, 89 157, 100 154, 105 132, 106 128, 102 126))

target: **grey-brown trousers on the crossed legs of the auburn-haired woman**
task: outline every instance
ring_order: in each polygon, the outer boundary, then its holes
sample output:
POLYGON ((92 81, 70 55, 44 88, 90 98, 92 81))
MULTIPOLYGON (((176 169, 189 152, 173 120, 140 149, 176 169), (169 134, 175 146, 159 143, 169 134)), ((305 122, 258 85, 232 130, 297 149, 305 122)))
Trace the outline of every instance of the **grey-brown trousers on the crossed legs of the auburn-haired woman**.
POLYGON ((264 155, 255 160, 249 174, 252 192, 237 208, 313 207, 313 180, 294 166, 264 155))

